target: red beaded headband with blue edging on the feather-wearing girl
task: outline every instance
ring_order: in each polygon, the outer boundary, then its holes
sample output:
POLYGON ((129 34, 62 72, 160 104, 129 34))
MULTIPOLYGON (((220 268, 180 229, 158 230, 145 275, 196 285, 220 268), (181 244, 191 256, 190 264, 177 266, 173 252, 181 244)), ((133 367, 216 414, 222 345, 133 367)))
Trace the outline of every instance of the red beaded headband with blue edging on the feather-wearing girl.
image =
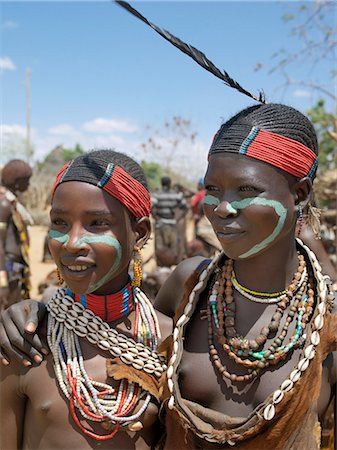
POLYGON ((296 178, 313 178, 318 162, 317 155, 309 147, 257 127, 251 129, 241 144, 239 154, 264 161, 296 178))

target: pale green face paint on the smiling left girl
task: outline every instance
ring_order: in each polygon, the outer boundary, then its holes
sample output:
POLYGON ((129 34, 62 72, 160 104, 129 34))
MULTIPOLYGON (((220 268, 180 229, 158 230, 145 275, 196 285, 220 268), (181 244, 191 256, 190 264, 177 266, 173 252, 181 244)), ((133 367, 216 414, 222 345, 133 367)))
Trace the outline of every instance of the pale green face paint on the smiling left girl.
MULTIPOLYGON (((69 234, 61 233, 56 230, 49 230, 48 237, 50 239, 54 239, 57 242, 60 242, 61 244, 66 244, 69 241, 69 234)), ((120 265, 121 259, 122 259, 122 247, 116 238, 114 238, 112 236, 107 236, 104 234, 103 235, 85 234, 85 235, 81 236, 79 239, 75 240, 73 243, 74 247, 81 247, 81 245, 83 245, 83 244, 108 245, 109 247, 113 247, 117 253, 116 258, 115 258, 112 266, 110 267, 109 271, 100 280, 98 280, 94 284, 91 284, 88 287, 86 294, 90 294, 90 292, 96 291, 97 289, 104 286, 105 283, 107 283, 108 281, 110 281, 113 278, 114 274, 116 273, 116 271, 120 265)))

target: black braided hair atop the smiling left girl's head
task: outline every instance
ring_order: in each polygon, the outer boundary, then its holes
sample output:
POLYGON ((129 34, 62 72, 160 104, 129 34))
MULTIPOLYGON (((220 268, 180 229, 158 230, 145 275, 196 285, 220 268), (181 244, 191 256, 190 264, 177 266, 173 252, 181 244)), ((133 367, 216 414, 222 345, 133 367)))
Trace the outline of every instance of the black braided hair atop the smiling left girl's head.
POLYGON ((108 164, 121 167, 149 190, 146 176, 141 166, 130 156, 114 150, 93 150, 78 156, 70 163, 69 168, 61 178, 61 183, 66 181, 83 181, 97 186, 97 183, 103 178, 108 164))

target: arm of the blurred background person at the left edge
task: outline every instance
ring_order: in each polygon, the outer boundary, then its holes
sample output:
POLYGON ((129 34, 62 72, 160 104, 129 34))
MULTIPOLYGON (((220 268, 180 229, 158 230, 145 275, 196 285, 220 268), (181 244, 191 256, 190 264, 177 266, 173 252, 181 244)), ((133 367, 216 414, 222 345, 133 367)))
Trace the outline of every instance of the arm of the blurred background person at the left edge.
POLYGON ((0 201, 0 309, 6 308, 9 295, 8 275, 5 265, 5 243, 10 215, 11 204, 3 197, 0 201))

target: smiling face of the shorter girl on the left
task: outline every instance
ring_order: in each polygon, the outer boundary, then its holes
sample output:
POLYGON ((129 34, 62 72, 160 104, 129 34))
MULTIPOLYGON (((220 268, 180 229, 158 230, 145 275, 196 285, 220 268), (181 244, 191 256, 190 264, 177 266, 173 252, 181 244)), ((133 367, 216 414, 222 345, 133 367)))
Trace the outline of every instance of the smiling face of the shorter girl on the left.
POLYGON ((150 233, 114 197, 88 183, 57 187, 50 211, 50 252, 67 286, 77 294, 109 294, 127 282, 133 249, 150 233))

